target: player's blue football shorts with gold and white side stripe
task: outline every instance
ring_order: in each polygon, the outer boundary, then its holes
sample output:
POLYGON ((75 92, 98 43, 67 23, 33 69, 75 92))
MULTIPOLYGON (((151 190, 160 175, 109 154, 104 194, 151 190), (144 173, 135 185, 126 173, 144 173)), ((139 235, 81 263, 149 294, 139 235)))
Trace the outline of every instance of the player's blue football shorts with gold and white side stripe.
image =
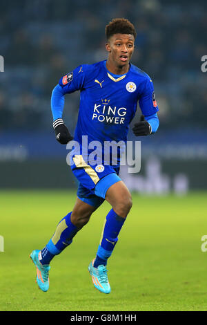
POLYGON ((79 181, 78 198, 93 207, 99 207, 109 187, 121 180, 118 176, 119 166, 92 166, 85 163, 81 155, 75 156, 73 160, 72 173, 79 181))

